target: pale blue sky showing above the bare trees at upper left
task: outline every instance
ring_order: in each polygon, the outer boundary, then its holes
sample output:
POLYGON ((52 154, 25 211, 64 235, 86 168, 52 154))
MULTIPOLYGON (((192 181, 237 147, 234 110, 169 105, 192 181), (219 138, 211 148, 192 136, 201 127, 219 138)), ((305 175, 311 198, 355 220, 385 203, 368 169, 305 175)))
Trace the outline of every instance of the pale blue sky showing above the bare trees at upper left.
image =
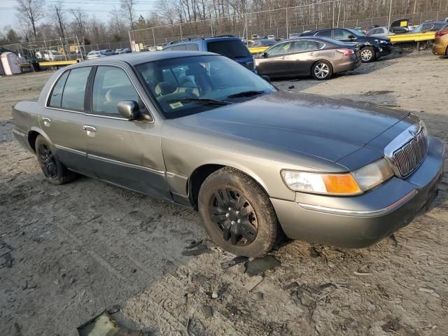
MULTIPOLYGON (((57 3, 57 0, 46 0, 47 7, 51 6, 51 4, 57 3)), ((64 0, 64 8, 68 10, 69 8, 82 8, 85 12, 95 18, 107 21, 109 20, 109 11, 116 8, 120 8, 120 0, 64 0)), ((136 14, 143 15, 146 17, 146 14, 149 10, 154 9, 154 4, 156 0, 138 0, 136 6, 136 14)), ((4 27, 10 25, 13 28, 18 27, 19 23, 18 19, 15 17, 15 0, 0 0, 0 29, 3 30, 4 27)), ((69 13, 67 13, 67 18, 70 18, 69 13)), ((44 21, 44 20, 43 20, 44 21)), ((42 21, 42 22, 43 22, 42 21)))

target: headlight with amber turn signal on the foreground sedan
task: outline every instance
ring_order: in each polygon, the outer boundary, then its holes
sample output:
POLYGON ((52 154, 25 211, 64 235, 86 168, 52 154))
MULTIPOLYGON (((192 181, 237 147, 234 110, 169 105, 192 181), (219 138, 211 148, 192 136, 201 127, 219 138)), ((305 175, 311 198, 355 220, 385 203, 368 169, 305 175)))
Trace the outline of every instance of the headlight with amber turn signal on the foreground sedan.
POLYGON ((281 177, 288 188, 305 193, 327 195, 358 195, 378 186, 392 176, 392 169, 384 159, 345 174, 281 171, 281 177))

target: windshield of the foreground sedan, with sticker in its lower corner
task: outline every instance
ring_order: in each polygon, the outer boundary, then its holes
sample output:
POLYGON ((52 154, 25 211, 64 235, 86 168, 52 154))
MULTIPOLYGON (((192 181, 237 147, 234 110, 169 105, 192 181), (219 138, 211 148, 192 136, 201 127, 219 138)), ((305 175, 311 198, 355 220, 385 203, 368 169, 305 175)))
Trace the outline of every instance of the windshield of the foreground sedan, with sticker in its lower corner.
POLYGON ((168 119, 276 91, 252 71, 219 55, 164 59, 136 68, 168 119))

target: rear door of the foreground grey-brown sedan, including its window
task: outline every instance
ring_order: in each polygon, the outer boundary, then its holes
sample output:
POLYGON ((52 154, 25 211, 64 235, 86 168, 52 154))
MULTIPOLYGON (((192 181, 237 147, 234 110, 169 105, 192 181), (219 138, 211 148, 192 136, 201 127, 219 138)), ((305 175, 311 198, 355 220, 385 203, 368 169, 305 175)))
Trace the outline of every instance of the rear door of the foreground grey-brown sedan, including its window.
POLYGON ((85 133, 85 88, 92 66, 64 71, 39 116, 41 129, 57 149, 57 156, 69 169, 91 175, 87 168, 85 133))

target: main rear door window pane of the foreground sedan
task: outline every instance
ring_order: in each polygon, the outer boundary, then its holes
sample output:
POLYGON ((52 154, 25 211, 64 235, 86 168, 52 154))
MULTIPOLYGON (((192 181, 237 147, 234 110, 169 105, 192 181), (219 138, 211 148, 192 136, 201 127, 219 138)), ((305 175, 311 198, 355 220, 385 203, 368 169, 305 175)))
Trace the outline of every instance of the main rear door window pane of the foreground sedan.
POLYGON ((84 94, 87 78, 89 78, 90 66, 71 69, 66 80, 64 93, 62 94, 61 107, 69 110, 84 110, 84 94))

